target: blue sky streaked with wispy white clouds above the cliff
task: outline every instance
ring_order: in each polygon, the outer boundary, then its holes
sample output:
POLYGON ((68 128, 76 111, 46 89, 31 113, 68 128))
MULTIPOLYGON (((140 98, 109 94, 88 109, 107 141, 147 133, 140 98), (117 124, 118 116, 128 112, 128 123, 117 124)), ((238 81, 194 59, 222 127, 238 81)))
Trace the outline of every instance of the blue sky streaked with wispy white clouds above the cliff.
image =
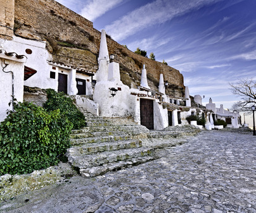
POLYGON ((256 79, 255 0, 58 0, 131 51, 154 52, 191 95, 219 107, 240 99, 229 82, 256 79))

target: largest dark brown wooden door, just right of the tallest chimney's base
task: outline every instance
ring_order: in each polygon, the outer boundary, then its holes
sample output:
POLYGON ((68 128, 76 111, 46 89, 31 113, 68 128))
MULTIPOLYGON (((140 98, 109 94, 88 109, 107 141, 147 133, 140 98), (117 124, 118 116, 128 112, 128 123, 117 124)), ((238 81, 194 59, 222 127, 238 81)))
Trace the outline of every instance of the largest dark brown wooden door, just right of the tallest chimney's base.
POLYGON ((154 129, 153 100, 141 99, 141 125, 154 129))

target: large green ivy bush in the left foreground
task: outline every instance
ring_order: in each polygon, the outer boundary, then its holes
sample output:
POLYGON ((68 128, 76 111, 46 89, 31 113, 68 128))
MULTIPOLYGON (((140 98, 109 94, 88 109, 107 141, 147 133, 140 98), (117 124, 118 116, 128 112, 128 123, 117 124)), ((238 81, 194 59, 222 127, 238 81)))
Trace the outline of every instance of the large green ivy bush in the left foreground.
POLYGON ((14 109, 0 123, 0 175, 32 173, 60 162, 70 147, 72 123, 60 110, 48 113, 30 102, 14 109))

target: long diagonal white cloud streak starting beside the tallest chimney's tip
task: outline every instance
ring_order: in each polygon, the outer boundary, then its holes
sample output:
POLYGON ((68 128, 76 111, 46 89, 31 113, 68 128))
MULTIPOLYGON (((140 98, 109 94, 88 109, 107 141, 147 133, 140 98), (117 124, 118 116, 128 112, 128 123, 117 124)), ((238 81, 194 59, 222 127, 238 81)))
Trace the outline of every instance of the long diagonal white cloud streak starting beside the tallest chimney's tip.
POLYGON ((149 25, 164 23, 193 9, 200 9, 218 1, 222 0, 156 0, 114 21, 105 29, 114 39, 122 40, 149 25))

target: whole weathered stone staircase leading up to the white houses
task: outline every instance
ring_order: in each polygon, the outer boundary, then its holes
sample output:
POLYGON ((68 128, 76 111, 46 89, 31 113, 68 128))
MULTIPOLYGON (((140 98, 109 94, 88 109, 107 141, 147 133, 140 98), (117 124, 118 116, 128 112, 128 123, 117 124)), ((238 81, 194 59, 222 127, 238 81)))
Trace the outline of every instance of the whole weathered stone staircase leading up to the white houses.
MULTIPOLYGON (((86 116, 87 127, 72 131, 72 147, 67 150, 67 157, 86 178, 157 159, 156 148, 171 145, 169 138, 184 135, 184 131, 174 129, 150 131, 134 123, 117 124, 115 119, 81 111, 86 116), (168 140, 159 142, 159 138, 168 140)), ((179 144, 183 142, 184 139, 176 141, 179 144)))

